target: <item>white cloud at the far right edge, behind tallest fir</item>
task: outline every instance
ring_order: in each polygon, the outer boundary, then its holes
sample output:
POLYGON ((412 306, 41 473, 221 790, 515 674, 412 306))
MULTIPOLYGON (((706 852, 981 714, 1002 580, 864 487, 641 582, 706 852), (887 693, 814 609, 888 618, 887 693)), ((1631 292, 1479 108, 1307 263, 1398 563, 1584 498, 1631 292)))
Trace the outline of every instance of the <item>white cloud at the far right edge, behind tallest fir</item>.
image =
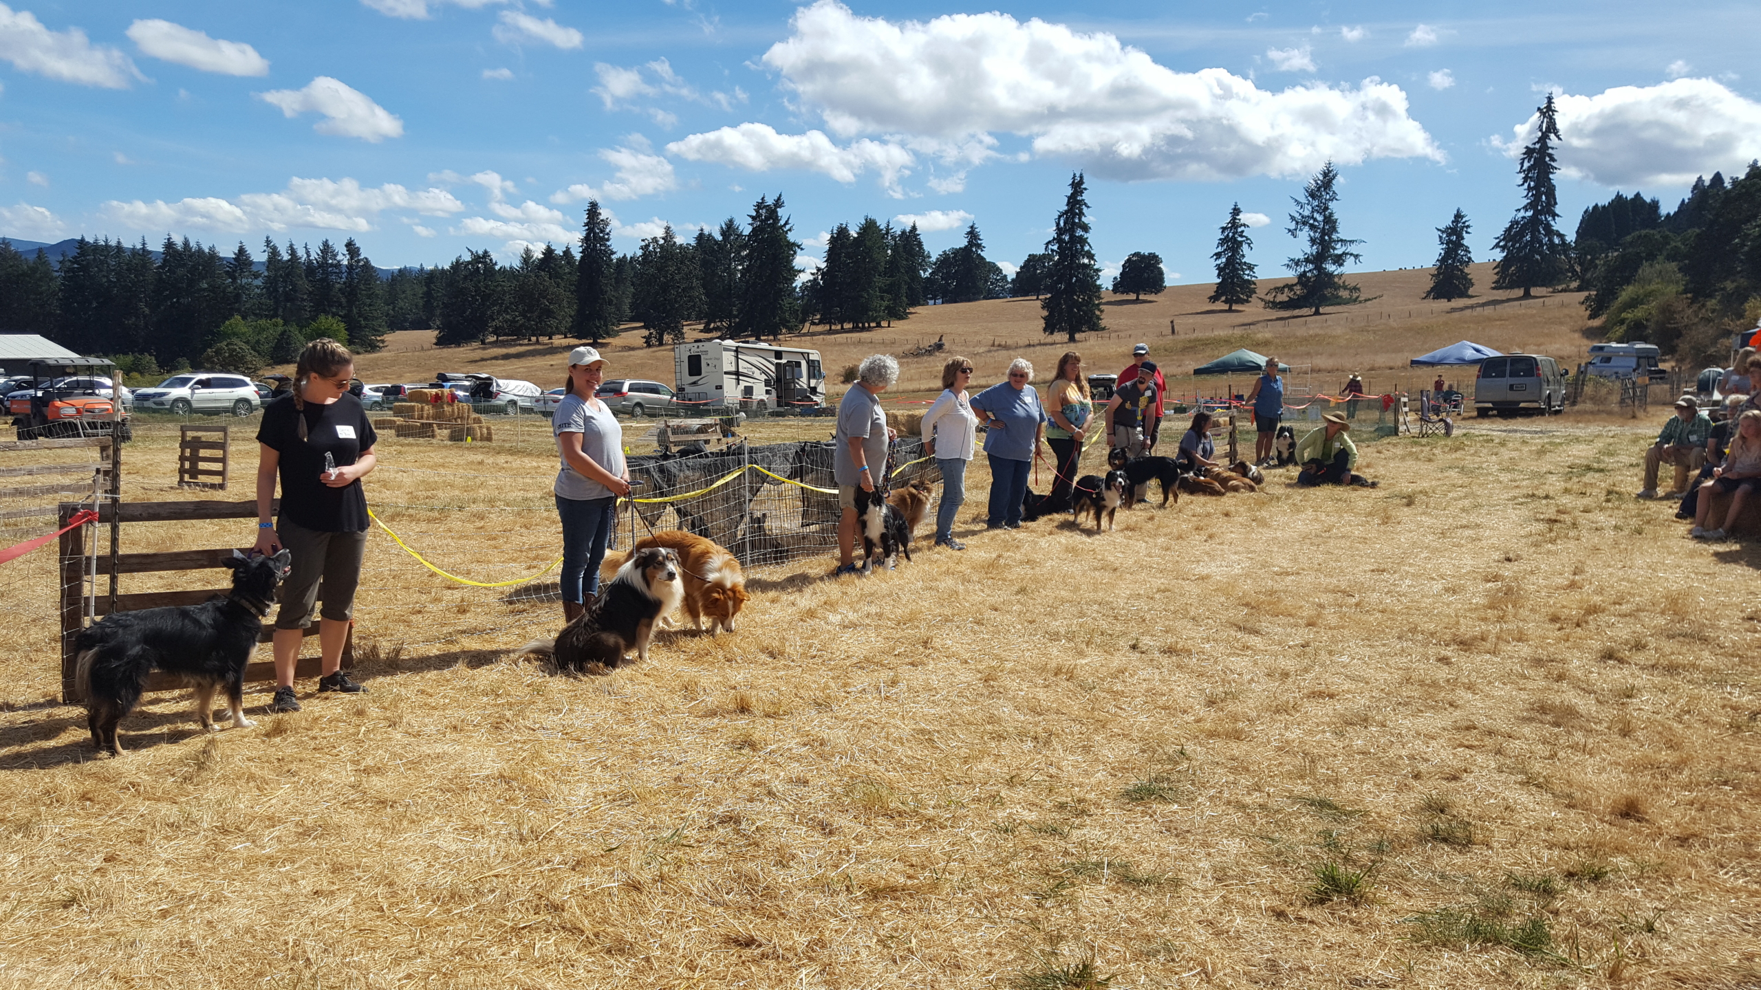
MULTIPOLYGON (((1719 169, 1740 173, 1761 159, 1761 102, 1712 79, 1553 99, 1560 169, 1599 185, 1687 185, 1719 169)), ((1511 130, 1509 141, 1493 136, 1493 144, 1514 159, 1537 127, 1530 116, 1511 130)))

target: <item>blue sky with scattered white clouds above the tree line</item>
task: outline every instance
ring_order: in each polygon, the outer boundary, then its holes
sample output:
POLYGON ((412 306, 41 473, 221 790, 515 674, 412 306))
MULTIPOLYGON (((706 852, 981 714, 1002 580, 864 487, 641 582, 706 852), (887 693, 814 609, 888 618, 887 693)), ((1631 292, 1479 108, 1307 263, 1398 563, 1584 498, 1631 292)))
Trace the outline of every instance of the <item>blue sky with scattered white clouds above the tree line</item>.
POLYGON ((1567 234, 1761 157, 1757 37, 1756 4, 0 0, 0 234, 444 264, 560 247, 588 196, 634 250, 782 192, 807 257, 873 215, 1016 262, 1083 169, 1102 262, 1205 282, 1236 201, 1280 273, 1331 157, 1365 268, 1430 264, 1456 206, 1486 259, 1550 88, 1567 234))

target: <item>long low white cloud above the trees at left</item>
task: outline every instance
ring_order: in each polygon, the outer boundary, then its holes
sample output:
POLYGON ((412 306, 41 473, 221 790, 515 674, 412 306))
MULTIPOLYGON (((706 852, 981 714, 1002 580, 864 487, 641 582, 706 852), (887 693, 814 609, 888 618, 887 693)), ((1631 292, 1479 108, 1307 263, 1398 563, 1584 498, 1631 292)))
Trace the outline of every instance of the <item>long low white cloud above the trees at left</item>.
POLYGON ((291 178, 282 192, 247 192, 234 199, 190 197, 176 203, 139 199, 109 201, 102 213, 130 231, 164 233, 204 229, 224 233, 373 229, 373 220, 387 210, 410 210, 424 217, 451 217, 465 204, 444 188, 409 190, 396 183, 377 188, 352 178, 291 178))

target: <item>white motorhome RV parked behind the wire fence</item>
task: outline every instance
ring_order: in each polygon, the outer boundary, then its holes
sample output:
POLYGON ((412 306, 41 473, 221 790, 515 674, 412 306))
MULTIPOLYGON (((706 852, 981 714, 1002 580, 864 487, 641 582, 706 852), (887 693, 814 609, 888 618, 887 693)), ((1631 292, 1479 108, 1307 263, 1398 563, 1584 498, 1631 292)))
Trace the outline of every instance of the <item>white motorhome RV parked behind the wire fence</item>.
POLYGON ((819 351, 763 340, 676 344, 673 375, 685 402, 748 409, 812 409, 826 402, 826 370, 819 351))

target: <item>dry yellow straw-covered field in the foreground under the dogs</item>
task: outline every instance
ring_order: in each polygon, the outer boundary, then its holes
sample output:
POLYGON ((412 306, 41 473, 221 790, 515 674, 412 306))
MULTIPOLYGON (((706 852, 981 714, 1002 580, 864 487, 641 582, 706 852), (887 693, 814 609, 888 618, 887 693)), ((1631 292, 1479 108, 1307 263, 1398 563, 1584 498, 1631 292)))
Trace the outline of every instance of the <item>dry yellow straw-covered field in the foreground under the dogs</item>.
MULTIPOLYGON (((970 532, 977 465, 965 553, 757 574, 604 678, 375 536, 370 694, 215 736, 155 696, 106 761, 0 573, 0 985, 1756 986, 1761 550, 1632 500, 1647 428, 1389 439, 1379 490, 1101 536, 970 532)), ((551 560, 537 437, 382 453, 438 564, 551 560)))

